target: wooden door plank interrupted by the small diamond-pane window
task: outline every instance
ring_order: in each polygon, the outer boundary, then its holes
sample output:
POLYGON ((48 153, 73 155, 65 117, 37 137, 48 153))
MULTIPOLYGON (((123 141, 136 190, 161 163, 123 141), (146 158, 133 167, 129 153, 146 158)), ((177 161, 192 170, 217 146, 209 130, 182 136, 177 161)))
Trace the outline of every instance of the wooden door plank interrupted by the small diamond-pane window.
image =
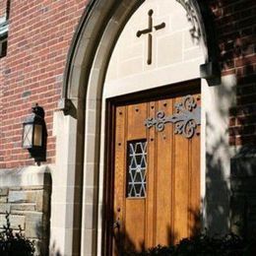
MULTIPOLYGON (((139 155, 141 152, 140 143, 145 142, 147 139, 146 129, 141 129, 140 123, 142 120, 147 118, 147 104, 131 104, 126 106, 127 111, 127 141, 126 145, 134 145, 134 162, 132 165, 138 165, 141 163, 141 156, 139 155), (139 140, 136 142, 136 140, 139 140), (133 143, 134 142, 134 143, 133 143), (137 156, 139 155, 139 156, 137 156)), ((127 153, 129 150, 127 151, 127 153)), ((133 166, 133 167, 135 167, 133 166)), ((125 170, 124 170, 125 171, 125 170)), ((137 170, 132 170, 136 172, 137 170)), ((126 196, 125 196, 125 204, 126 204, 126 218, 123 220, 123 224, 125 225, 125 247, 129 248, 134 246, 135 250, 139 250, 141 245, 145 242, 145 221, 146 221, 146 199, 144 197, 144 193, 142 197, 129 197, 127 191, 127 182, 128 178, 128 166, 126 167, 126 196)), ((138 181, 140 173, 133 174, 134 182, 138 181)), ((140 187, 140 184, 136 184, 135 186, 140 187)), ((139 194, 139 188, 136 188, 136 193, 139 194)), ((146 184, 147 190, 147 184, 146 184)), ((146 191, 147 193, 147 191, 146 191)))

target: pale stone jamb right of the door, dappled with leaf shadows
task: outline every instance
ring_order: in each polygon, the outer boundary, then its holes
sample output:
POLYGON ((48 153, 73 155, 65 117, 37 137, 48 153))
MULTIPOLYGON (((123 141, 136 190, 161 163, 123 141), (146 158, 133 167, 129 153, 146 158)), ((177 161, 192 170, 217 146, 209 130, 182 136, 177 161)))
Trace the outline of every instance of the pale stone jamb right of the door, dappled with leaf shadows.
MULTIPOLYGON (((233 78, 234 80, 234 78, 233 78)), ((233 103, 233 81, 230 85, 209 88, 211 95, 206 112, 206 195, 205 221, 211 235, 229 231, 230 158, 228 143, 229 107, 233 103)), ((208 99, 206 99, 208 100, 208 99)))

